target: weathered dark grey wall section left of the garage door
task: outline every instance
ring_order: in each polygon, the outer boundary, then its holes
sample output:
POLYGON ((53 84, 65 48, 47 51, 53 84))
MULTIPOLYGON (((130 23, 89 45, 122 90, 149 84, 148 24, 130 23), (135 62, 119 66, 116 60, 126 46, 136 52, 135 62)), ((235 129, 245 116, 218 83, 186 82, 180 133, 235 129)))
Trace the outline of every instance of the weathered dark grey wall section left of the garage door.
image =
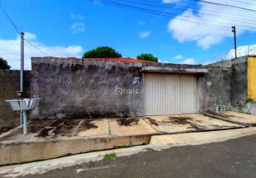
MULTIPOLYGON (((67 58, 32 58, 33 118, 128 117, 143 114, 140 64, 67 58)), ((142 81, 142 80, 141 80, 142 81)))

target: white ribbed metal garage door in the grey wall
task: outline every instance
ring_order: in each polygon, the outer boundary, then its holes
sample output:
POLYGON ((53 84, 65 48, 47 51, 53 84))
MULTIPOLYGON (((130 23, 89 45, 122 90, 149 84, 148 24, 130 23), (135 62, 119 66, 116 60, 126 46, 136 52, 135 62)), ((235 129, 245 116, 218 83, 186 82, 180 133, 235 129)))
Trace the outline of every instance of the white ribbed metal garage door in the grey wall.
POLYGON ((145 73, 144 115, 197 112, 195 75, 145 73))

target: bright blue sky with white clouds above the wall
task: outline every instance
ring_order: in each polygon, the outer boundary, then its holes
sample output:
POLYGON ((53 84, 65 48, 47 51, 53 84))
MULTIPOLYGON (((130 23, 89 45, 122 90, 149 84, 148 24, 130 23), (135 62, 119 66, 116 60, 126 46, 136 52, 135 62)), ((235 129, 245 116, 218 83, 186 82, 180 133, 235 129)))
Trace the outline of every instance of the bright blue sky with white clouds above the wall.
MULTIPOLYGON (((200 9, 205 5, 195 1, 158 2, 174 7, 177 3, 178 6, 185 4, 183 11, 168 10, 177 15, 187 13, 202 19, 211 18, 200 16, 200 9)), ((231 28, 230 31, 218 33, 218 29, 212 29, 206 33, 210 27, 193 23, 190 26, 191 23, 177 21, 175 17, 130 11, 107 6, 101 1, 1 0, 1 4, 16 26, 26 32, 26 38, 51 56, 79 57, 97 46, 111 46, 124 57, 153 53, 162 62, 184 63, 188 59, 188 63, 200 63, 202 59, 229 53, 233 48, 231 28)), ((19 68, 17 33, 2 13, 0 22, 0 56, 6 58, 12 68, 19 68)), ((255 31, 241 31, 237 43, 238 46, 254 45, 255 31)), ((25 53, 26 68, 30 68, 30 56, 45 56, 31 46, 25 53)))

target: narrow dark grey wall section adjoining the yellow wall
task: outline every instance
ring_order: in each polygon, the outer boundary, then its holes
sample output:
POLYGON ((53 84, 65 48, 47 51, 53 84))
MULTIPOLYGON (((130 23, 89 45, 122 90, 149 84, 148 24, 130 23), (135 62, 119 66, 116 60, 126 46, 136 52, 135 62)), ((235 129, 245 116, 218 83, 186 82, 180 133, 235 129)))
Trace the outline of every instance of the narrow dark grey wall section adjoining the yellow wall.
POLYGON ((247 56, 232 61, 232 107, 242 110, 247 100, 247 56))

